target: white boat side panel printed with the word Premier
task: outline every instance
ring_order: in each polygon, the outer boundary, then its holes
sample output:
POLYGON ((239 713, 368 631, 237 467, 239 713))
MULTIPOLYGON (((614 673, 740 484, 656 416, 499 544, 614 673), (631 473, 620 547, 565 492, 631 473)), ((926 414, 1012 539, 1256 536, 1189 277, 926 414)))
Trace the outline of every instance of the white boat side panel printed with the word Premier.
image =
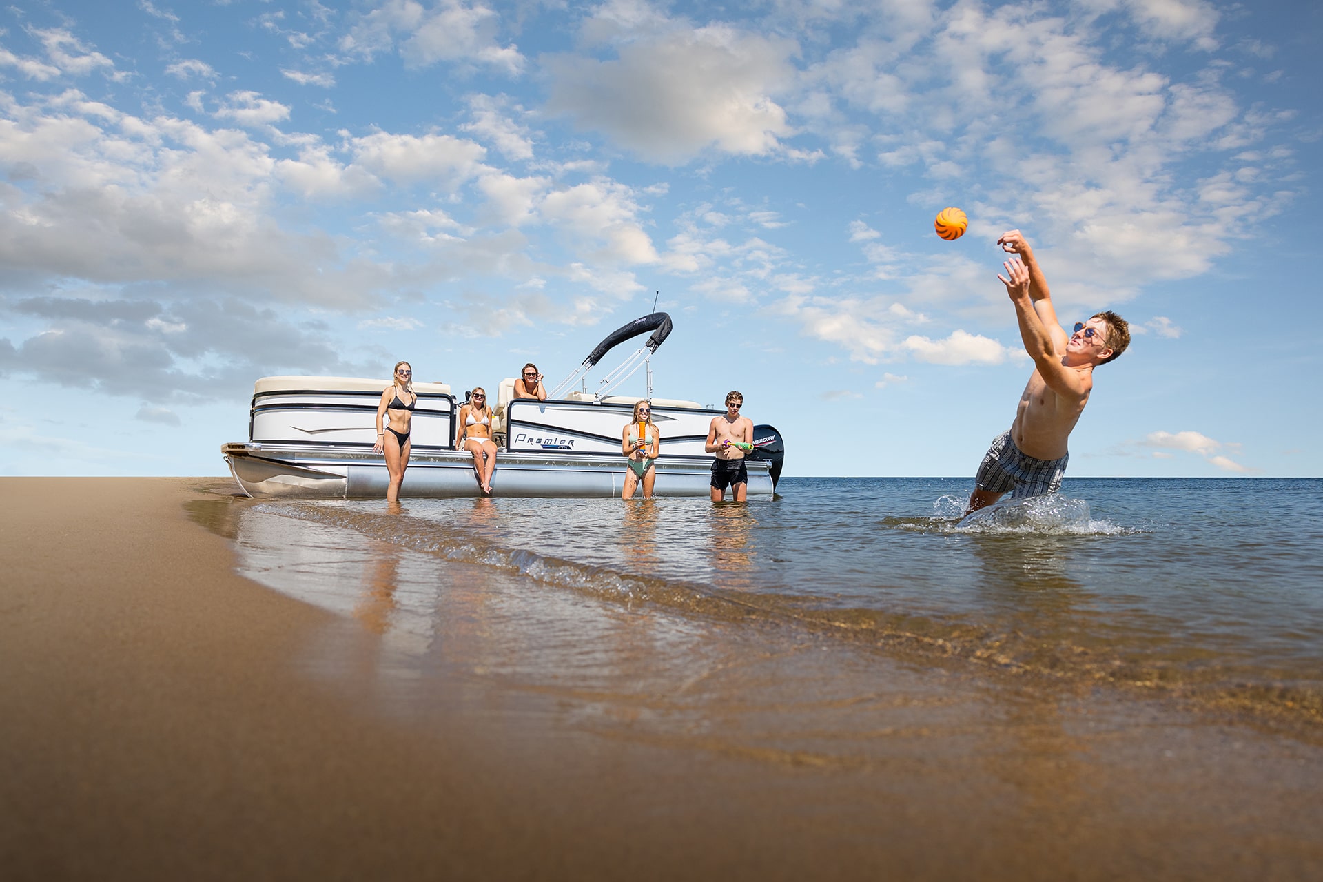
MULTIPOLYGON (((654 407, 663 456, 710 456, 708 428, 721 411, 654 407)), ((626 405, 517 398, 505 410, 505 448, 511 452, 620 455, 620 432, 634 417, 626 405)))

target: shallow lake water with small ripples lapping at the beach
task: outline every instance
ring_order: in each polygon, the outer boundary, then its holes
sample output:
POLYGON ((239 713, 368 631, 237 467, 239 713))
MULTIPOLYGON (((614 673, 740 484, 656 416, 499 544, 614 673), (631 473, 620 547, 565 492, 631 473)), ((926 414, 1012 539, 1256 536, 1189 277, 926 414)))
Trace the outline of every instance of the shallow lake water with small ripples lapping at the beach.
MULTIPOLYGON (((688 628, 757 623, 1323 721, 1323 480, 1068 479, 1057 500, 960 528, 967 488, 786 479, 747 505, 410 500, 400 513, 259 502, 238 538, 251 550, 261 534, 269 551, 241 569, 348 614, 372 581, 352 536, 536 583, 548 599, 669 610, 688 628)), ((381 627, 425 647, 445 611, 431 570, 411 566, 392 570, 402 587, 381 627)))

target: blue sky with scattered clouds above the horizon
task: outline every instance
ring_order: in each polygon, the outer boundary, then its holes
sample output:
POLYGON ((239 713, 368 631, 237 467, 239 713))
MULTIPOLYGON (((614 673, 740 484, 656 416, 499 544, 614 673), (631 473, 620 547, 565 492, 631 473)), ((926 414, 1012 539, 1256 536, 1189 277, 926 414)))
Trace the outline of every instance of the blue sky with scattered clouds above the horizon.
POLYGON ((742 391, 787 476, 972 476, 1020 229, 1134 333, 1069 476, 1320 476, 1320 50, 1310 1, 22 0, 0 473, 224 475, 259 377, 554 385, 655 305, 654 394, 742 391))

